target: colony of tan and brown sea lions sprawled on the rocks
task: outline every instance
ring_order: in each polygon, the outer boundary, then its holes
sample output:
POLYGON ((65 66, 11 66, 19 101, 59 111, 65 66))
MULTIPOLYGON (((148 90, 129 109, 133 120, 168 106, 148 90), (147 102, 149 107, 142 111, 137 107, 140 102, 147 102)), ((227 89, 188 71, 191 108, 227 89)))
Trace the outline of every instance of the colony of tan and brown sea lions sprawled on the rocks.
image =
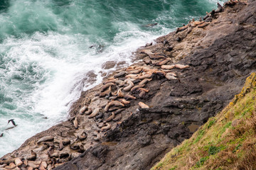
MULTIPOLYGON (((225 6, 233 6, 238 1, 228 1, 225 6)), ((225 7, 224 6, 224 7, 225 7)), ((223 11, 223 7, 218 4, 218 9, 207 13, 203 18, 205 21, 190 21, 188 25, 177 28, 177 42, 184 37, 183 33, 188 35, 193 28, 205 28, 215 17, 215 13, 223 11), (208 19, 206 21, 207 18, 208 19), (187 31, 184 31, 187 30, 187 31)), ((165 40, 164 45, 169 45, 165 40)), ((150 46, 150 45, 146 45, 150 46)), ((171 51, 174 47, 167 47, 166 51, 171 51)), ((38 149, 31 149, 29 157, 13 157, 0 161, 1 169, 53 169, 73 157, 78 157, 85 151, 85 143, 100 142, 107 130, 119 126, 124 120, 131 103, 137 103, 138 108, 149 108, 143 103, 143 98, 149 93, 147 84, 156 79, 166 79, 167 81, 179 81, 178 72, 180 69, 189 68, 186 64, 176 64, 175 60, 165 55, 164 52, 154 52, 154 50, 141 50, 144 55, 143 64, 137 64, 126 69, 121 69, 112 77, 106 79, 102 84, 100 91, 95 93, 94 98, 85 100, 80 111, 69 121, 73 123, 74 137, 45 136, 37 141, 38 149), (173 71, 174 70, 174 71, 173 71), (82 120, 89 120, 94 123, 93 132, 89 133, 84 129, 82 120), (40 157, 38 155, 40 154, 40 157)))

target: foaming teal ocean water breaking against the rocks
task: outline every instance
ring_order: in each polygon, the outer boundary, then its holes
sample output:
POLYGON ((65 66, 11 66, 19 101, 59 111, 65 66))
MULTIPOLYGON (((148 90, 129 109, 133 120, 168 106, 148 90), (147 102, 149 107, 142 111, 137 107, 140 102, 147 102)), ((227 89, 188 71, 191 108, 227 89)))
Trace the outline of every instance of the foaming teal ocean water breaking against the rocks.
POLYGON ((0 157, 66 120, 107 61, 132 52, 218 0, 0 0, 0 157), (147 24, 158 23, 154 27, 147 24), (91 47, 92 46, 92 47, 91 47), (97 74, 83 84, 87 72, 97 74), (15 128, 8 120, 14 119, 15 128), (11 128, 6 130, 6 128, 11 128))

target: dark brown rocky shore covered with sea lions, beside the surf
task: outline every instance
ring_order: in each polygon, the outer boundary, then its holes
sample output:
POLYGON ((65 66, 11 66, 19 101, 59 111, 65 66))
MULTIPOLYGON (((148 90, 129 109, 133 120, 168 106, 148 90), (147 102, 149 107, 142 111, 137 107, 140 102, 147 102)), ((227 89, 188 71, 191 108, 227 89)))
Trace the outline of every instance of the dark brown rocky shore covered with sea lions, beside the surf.
POLYGON ((0 169, 150 169, 242 89, 256 67, 256 2, 229 1, 136 52, 83 91, 70 119, 0 160, 0 169))

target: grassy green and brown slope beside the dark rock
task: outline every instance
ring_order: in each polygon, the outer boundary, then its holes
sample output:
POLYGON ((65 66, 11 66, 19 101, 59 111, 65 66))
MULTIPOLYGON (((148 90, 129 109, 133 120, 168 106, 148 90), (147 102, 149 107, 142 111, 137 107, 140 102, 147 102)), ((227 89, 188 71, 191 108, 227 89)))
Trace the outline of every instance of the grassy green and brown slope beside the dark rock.
POLYGON ((256 74, 240 94, 189 140, 175 147, 154 169, 255 169, 256 74))

